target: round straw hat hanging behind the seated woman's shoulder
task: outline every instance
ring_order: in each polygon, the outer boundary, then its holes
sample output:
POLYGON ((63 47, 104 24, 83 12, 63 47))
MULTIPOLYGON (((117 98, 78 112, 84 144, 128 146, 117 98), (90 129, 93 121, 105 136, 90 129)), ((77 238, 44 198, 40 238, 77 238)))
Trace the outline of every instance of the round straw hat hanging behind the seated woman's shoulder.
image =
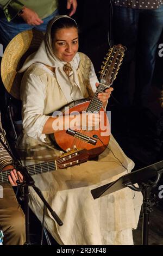
POLYGON ((43 39, 43 33, 35 29, 16 35, 5 48, 1 76, 5 89, 16 99, 20 99, 21 69, 27 57, 36 52, 43 39))

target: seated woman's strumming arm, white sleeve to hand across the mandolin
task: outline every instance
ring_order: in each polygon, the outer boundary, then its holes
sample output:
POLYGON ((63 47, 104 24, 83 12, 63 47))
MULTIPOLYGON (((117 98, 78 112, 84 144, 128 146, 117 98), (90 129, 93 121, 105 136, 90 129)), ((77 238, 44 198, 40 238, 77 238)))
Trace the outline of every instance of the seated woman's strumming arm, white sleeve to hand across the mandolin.
POLYGON ((80 129, 80 126, 91 127, 99 123, 98 115, 92 113, 88 118, 84 118, 81 114, 74 117, 69 117, 69 115, 49 117, 43 114, 45 97, 46 86, 40 76, 29 74, 23 78, 21 85, 22 120, 23 129, 29 137, 45 141, 45 134, 67 130, 68 127, 71 129, 75 127, 80 129))

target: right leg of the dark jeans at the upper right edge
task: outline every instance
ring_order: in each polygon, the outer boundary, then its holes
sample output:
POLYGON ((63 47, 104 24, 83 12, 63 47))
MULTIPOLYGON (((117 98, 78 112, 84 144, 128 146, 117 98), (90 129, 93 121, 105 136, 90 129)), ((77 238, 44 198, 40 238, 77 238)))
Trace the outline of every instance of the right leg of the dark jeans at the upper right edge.
POLYGON ((163 28, 163 6, 140 15, 136 60, 135 102, 146 106, 155 66, 155 54, 163 28))

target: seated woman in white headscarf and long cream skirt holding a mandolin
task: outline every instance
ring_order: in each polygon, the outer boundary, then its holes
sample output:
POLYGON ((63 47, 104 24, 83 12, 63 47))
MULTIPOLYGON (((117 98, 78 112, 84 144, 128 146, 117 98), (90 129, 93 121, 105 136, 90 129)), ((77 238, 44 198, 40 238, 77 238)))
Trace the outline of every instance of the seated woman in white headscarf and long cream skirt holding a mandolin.
MULTIPOLYGON (((78 52, 76 21, 68 16, 51 20, 39 50, 28 57, 20 72, 24 72, 21 83, 24 132, 17 147, 26 156, 25 164, 54 159, 61 153, 48 135, 57 132, 54 120, 62 122, 66 129, 68 119, 48 114, 71 101, 92 96, 98 86, 90 59, 78 52)), ((111 91, 112 88, 98 94, 104 107, 111 91)), ((86 126, 90 126, 92 115, 86 126)), ((76 119, 79 127, 81 119, 79 114, 76 119)), ((91 127, 98 122, 95 114, 91 127)), ((35 184, 64 223, 59 227, 47 210, 46 228, 61 245, 133 244, 132 229, 136 229, 139 220, 141 193, 124 188, 94 200, 90 192, 134 167, 112 136, 108 147, 98 160, 34 176, 35 184)), ((32 190, 30 207, 42 220, 43 204, 32 190)))

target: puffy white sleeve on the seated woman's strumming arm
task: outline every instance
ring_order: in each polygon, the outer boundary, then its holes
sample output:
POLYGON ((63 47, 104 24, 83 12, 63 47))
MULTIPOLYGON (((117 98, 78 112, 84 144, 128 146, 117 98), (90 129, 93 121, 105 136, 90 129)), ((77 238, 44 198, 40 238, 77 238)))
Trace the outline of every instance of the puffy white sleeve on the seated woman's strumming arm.
POLYGON ((21 83, 23 129, 29 137, 44 141, 42 129, 48 115, 43 114, 46 84, 40 76, 25 74, 21 83))

